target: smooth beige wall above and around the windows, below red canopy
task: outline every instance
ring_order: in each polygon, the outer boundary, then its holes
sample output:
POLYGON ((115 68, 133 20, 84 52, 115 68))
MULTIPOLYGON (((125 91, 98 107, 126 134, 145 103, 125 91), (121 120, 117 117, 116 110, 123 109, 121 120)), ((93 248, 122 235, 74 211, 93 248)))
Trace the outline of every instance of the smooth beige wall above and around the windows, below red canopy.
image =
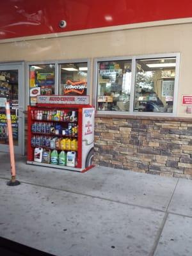
POLYGON ((192 114, 185 113, 186 106, 181 105, 183 94, 192 95, 191 45, 192 24, 175 24, 37 40, 26 38, 26 41, 0 44, 0 60, 72 60, 180 52, 177 115, 192 117, 192 114))

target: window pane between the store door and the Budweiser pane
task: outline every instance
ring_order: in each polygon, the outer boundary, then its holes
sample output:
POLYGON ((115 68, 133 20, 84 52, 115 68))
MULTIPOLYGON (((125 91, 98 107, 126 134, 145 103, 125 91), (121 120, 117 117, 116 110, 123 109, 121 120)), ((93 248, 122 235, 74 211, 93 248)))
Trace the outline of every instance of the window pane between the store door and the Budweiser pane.
POLYGON ((30 104, 36 103, 37 95, 52 95, 55 88, 54 64, 29 66, 30 104))

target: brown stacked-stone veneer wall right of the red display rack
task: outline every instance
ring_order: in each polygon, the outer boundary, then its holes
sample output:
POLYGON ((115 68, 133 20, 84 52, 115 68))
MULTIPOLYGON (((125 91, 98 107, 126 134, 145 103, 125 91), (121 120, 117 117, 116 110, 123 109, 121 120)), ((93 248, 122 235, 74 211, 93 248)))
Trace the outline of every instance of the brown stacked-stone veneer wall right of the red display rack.
POLYGON ((97 115, 94 162, 192 179, 192 118, 97 115))

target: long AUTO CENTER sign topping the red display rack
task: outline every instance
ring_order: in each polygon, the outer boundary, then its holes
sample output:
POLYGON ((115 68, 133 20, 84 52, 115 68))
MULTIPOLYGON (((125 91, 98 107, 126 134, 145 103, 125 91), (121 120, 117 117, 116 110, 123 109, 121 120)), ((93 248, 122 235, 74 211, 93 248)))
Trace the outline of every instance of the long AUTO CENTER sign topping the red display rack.
POLYGON ((61 96, 61 95, 50 95, 50 96, 37 96, 37 103, 40 104, 78 104, 87 105, 90 103, 89 96, 61 96))

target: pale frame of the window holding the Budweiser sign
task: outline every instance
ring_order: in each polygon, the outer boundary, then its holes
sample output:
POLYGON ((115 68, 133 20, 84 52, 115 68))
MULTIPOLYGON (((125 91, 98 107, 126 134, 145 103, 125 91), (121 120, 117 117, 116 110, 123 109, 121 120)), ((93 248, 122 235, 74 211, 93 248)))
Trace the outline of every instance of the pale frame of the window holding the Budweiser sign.
POLYGON ((47 60, 47 61, 28 61, 26 62, 26 84, 28 86, 28 100, 27 104, 30 105, 30 84, 29 84, 29 72, 30 72, 30 66, 32 65, 54 65, 54 72, 55 72, 55 86, 54 86, 54 95, 59 95, 59 86, 60 86, 60 65, 61 64, 67 64, 67 63, 87 63, 87 91, 86 94, 90 95, 91 92, 91 60, 89 58, 86 59, 72 59, 72 60, 47 60))

